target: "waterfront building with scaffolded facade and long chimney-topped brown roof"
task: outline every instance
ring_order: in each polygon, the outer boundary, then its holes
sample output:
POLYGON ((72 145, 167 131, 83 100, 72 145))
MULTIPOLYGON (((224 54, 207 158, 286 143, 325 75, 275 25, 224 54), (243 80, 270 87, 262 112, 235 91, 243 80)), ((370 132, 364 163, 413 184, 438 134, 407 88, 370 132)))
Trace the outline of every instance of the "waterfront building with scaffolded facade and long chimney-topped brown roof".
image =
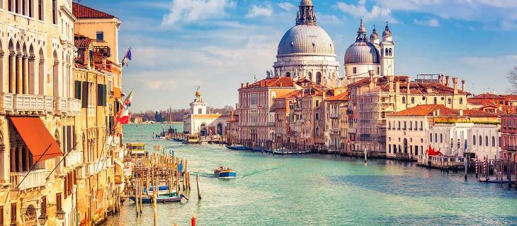
MULTIPOLYGON (((441 76, 443 78, 443 76, 441 76)), ((451 109, 467 108, 465 85, 458 89, 458 78, 411 81, 409 76, 376 77, 348 85, 348 133, 354 150, 386 153, 386 115, 400 112, 416 105, 444 105, 451 109)))

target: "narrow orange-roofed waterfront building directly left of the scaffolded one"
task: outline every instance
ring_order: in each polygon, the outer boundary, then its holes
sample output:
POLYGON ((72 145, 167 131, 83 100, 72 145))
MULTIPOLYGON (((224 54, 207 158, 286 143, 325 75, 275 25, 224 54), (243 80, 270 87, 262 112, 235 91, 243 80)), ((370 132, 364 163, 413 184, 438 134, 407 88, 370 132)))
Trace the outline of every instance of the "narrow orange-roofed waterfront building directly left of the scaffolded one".
POLYGON ((334 90, 334 95, 324 100, 325 145, 329 152, 348 151, 348 93, 345 89, 334 90))

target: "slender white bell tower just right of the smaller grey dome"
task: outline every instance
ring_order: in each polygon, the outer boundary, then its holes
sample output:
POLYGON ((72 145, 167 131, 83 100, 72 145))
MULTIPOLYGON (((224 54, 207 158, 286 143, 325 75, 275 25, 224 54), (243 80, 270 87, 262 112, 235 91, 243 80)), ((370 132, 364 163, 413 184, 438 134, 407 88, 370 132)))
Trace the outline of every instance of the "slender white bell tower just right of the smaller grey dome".
POLYGON ((392 31, 386 22, 384 32, 382 32, 382 42, 380 42, 380 69, 382 76, 394 76, 394 42, 392 31))

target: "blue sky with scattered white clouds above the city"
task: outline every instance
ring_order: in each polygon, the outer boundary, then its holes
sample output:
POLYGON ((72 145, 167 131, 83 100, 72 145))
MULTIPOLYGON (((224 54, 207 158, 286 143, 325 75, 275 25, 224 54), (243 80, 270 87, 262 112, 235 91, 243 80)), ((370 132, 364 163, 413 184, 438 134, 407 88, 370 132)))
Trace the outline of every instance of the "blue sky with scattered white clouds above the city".
MULTIPOLYGON (((503 93, 517 65, 515 0, 313 0, 318 25, 343 64, 360 18, 368 33, 390 21, 395 73, 445 73, 467 90, 503 93)), ((211 107, 235 105, 240 83, 263 78, 300 0, 81 0, 123 20, 120 54, 132 47, 124 90, 133 112, 186 108, 200 85, 211 107)), ((368 34, 369 35, 369 34, 368 34)), ((341 65, 342 75, 343 66, 341 65)))

